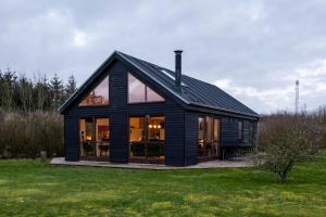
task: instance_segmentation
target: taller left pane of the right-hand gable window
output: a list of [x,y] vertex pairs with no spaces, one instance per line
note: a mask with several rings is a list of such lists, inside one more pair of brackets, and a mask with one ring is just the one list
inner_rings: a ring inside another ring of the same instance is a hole
[[146,86],[128,74],[128,102],[146,102]]

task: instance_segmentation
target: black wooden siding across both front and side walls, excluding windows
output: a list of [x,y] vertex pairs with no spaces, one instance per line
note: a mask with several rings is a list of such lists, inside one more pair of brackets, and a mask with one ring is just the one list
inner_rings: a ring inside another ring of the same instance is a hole
[[[64,140],[65,157],[67,161],[79,159],[79,132],[78,118],[95,116],[110,118],[110,161],[114,163],[127,163],[129,154],[129,126],[130,116],[164,115],[165,116],[165,164],[170,166],[184,166],[197,164],[198,149],[198,116],[209,115],[186,111],[176,103],[163,90],[158,90],[150,80],[145,80],[137,73],[135,77],[146,82],[150,88],[165,98],[160,103],[127,103],[127,73],[123,64],[115,61],[109,66],[103,75],[98,78],[93,86],[89,87],[85,94],[64,112]],[[110,75],[110,105],[78,107],[80,100]],[[248,120],[243,122],[243,140],[238,140],[238,118],[210,115],[221,119],[222,146],[248,145]],[[256,129],[256,125],[254,127]],[[247,143],[246,143],[247,142]]]

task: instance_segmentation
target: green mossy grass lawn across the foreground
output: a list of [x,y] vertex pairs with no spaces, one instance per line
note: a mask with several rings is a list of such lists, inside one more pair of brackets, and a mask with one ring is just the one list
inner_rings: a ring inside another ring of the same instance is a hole
[[251,168],[139,170],[0,161],[0,216],[323,216],[326,152],[287,183]]

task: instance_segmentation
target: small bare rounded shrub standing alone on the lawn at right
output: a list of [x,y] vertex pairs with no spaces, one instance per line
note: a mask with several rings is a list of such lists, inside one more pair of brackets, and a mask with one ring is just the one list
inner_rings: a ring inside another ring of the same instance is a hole
[[317,132],[304,118],[275,115],[263,119],[259,145],[263,152],[261,167],[276,173],[283,182],[293,165],[312,158],[317,152]]

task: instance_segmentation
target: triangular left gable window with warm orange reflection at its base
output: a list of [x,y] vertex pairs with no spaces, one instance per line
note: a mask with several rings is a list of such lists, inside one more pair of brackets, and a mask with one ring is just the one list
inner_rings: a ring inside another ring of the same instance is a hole
[[106,76],[86,98],[79,106],[108,105],[109,104],[109,76]]

